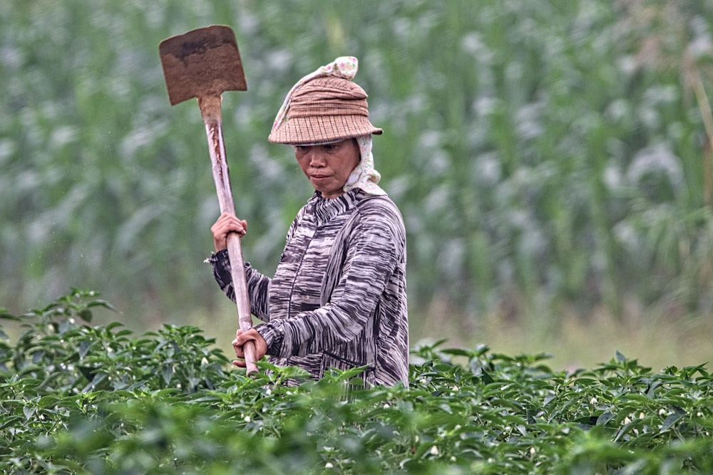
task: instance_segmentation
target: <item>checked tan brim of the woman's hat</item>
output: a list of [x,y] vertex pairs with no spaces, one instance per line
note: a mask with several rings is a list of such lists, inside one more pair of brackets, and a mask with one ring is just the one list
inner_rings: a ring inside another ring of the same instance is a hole
[[384,131],[364,115],[315,115],[289,118],[270,133],[267,140],[288,145],[334,142]]

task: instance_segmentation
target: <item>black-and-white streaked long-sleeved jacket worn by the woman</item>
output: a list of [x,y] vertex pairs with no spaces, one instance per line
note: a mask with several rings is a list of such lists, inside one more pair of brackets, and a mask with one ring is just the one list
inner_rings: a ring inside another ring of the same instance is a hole
[[[227,251],[208,259],[235,301]],[[369,385],[409,384],[406,231],[385,196],[359,189],[335,199],[315,192],[297,213],[275,276],[245,264],[255,328],[276,365],[312,377],[369,365]]]

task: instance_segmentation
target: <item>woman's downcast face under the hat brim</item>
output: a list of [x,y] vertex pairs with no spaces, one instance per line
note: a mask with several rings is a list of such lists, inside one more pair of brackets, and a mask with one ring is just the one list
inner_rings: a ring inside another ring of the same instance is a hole
[[344,184],[359,165],[359,145],[354,139],[324,145],[295,145],[294,157],[299,167],[324,198],[337,198]]

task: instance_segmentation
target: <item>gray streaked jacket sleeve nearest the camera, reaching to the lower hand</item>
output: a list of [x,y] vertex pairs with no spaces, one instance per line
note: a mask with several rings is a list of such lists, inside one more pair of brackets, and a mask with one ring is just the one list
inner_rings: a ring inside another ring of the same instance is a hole
[[405,259],[405,246],[404,225],[397,210],[359,209],[338,246],[341,250],[332,256],[339,259],[339,266],[329,301],[289,320],[257,327],[267,341],[268,354],[304,356],[354,340],[375,313],[394,268]]

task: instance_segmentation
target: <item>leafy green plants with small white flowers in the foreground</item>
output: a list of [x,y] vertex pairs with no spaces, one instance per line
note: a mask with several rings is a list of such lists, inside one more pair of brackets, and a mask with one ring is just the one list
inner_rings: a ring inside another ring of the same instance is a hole
[[410,387],[359,389],[260,363],[234,370],[198,328],[91,325],[73,291],[0,340],[0,471],[18,474],[710,474],[704,365],[652,372],[617,353],[555,372],[546,355],[422,346]]

